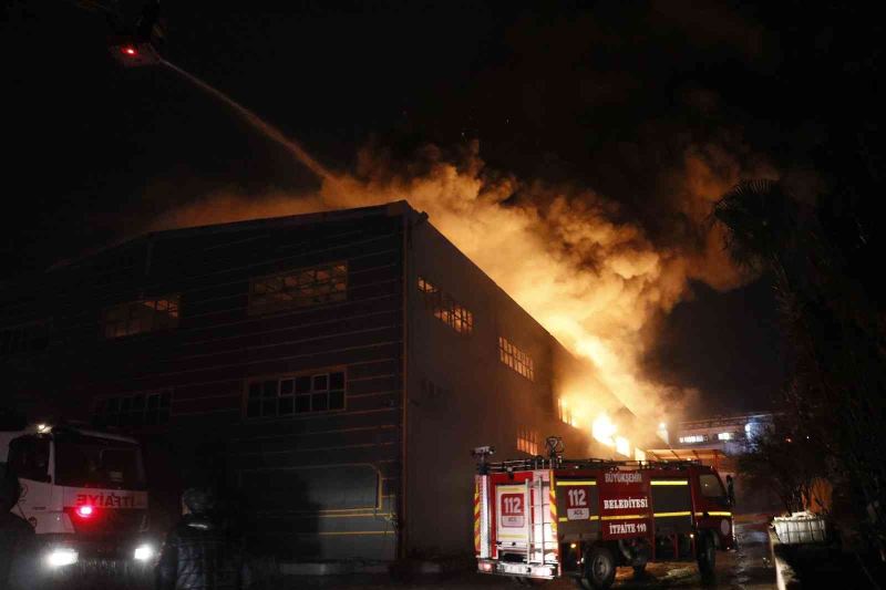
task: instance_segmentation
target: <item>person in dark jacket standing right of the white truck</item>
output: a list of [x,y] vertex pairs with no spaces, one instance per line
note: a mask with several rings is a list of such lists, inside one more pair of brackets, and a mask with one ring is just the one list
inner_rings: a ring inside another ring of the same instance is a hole
[[216,510],[214,494],[190,488],[190,511],[166,536],[157,562],[157,590],[241,590],[250,586],[244,542]]

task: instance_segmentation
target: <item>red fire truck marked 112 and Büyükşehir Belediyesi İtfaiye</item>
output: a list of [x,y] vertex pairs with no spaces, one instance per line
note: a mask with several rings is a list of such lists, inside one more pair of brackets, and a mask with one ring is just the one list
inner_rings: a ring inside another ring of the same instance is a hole
[[650,561],[697,561],[711,578],[718,550],[735,545],[731,498],[712,467],[698,462],[480,458],[474,488],[474,549],[483,573],[521,582],[570,577],[608,588],[616,568],[640,576]]

